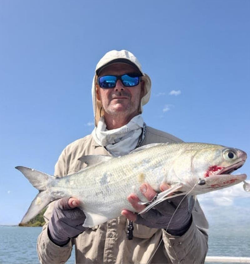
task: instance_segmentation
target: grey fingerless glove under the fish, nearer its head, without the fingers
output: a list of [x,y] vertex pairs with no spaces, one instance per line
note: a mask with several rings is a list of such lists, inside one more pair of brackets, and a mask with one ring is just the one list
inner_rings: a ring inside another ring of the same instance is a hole
[[[182,236],[192,223],[191,213],[194,206],[193,196],[186,196],[184,199],[183,197],[184,195],[180,195],[159,203],[149,211],[137,215],[135,223],[150,228],[163,228],[165,230],[168,228],[166,231],[169,234]],[[182,199],[183,201],[176,210]]]

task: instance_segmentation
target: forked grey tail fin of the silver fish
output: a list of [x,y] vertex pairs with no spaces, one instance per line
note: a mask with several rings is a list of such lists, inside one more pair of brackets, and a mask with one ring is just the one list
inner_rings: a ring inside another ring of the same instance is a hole
[[29,182],[39,190],[39,193],[32,201],[25,216],[22,218],[21,224],[25,224],[32,218],[34,218],[40,211],[42,211],[42,209],[51,201],[54,200],[46,191],[47,183],[49,180],[52,180],[53,176],[22,166],[18,166],[16,167],[16,169],[20,170],[22,174],[29,180]]

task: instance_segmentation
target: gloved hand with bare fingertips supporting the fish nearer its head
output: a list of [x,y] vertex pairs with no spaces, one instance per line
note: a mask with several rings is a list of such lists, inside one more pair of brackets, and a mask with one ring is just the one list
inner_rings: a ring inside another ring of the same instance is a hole
[[[160,186],[162,191],[168,190],[169,188],[170,186],[165,183]],[[147,183],[141,185],[140,190],[148,201],[152,201],[156,195],[155,190],[153,190],[153,188]],[[121,214],[128,220],[134,221],[136,224],[148,226],[150,228],[168,228],[168,233],[176,236],[182,236],[191,225],[191,212],[194,205],[192,197],[192,201],[190,202],[187,197],[184,199],[183,197],[184,195],[180,195],[163,201],[142,215],[138,215],[128,210],[123,210]],[[146,207],[145,205],[138,204],[140,200],[135,194],[129,195],[128,201],[138,213]],[[176,210],[179,204],[180,206]]]

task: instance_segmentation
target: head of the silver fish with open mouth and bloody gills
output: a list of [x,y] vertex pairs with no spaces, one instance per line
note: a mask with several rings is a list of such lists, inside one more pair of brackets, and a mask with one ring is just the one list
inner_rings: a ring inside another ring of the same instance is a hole
[[[244,151],[218,145],[213,145],[212,149],[206,152],[201,151],[200,155],[197,153],[193,166],[200,170],[196,169],[199,180],[195,193],[201,194],[223,189],[246,180],[246,174],[231,175],[232,172],[242,167],[246,159],[247,154]],[[206,160],[205,163],[204,160]],[[196,166],[197,162],[201,162],[199,166]]]

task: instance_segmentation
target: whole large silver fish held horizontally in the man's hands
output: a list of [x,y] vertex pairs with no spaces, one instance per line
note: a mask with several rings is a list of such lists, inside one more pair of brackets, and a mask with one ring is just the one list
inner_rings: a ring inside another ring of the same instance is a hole
[[[146,210],[163,201],[169,193],[197,195],[226,188],[244,181],[247,176],[230,175],[241,167],[247,154],[238,149],[205,143],[150,144],[121,157],[89,155],[80,158],[88,166],[62,178],[18,166],[39,193],[22,219],[26,223],[51,201],[73,196],[81,201],[87,216],[84,226],[92,227],[120,216],[122,209],[134,211],[127,201],[131,193],[142,202],[146,198],[139,186],[147,182],[160,191],[163,182],[171,189],[158,195]],[[245,182],[245,181],[244,181]],[[245,182],[244,189],[249,191]]]

